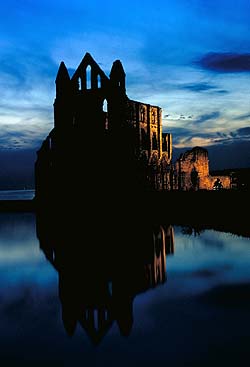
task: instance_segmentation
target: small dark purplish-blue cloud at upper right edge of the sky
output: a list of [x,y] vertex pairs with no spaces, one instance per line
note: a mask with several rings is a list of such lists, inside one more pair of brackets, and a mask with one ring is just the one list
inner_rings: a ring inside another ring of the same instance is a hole
[[250,53],[209,52],[195,63],[219,73],[250,72]]

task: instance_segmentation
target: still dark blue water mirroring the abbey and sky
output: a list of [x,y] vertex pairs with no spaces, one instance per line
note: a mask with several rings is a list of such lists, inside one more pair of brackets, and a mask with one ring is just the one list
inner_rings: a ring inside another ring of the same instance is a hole
[[67,238],[65,262],[36,230],[0,214],[1,366],[246,365],[250,239],[169,226],[110,257]]

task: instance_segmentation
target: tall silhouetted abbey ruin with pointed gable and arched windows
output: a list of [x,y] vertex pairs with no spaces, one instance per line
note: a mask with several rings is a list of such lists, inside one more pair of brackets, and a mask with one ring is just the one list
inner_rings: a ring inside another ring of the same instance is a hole
[[37,152],[36,198],[170,189],[172,139],[162,133],[161,108],[129,99],[125,77],[119,60],[107,77],[89,53],[72,77],[60,64],[54,128]]

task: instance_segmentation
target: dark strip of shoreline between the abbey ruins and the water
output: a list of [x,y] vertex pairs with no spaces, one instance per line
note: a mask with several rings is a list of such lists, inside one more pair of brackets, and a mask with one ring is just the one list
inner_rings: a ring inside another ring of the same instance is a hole
[[[118,202],[116,200],[115,206],[111,200],[105,199],[100,207],[101,213],[111,215],[115,221],[119,220],[120,215],[121,220],[130,218],[153,224],[170,223],[197,230],[213,228],[250,237],[249,198],[249,192],[240,191],[147,192],[121,198]],[[92,212],[93,218],[95,210],[99,214],[99,203],[95,198],[91,203],[80,198],[76,205],[71,202],[69,209],[63,200],[60,201],[59,210],[77,212],[80,209],[84,221],[85,214],[89,212]],[[115,208],[119,208],[118,214]],[[0,212],[36,213],[40,209],[35,199],[0,201]]]

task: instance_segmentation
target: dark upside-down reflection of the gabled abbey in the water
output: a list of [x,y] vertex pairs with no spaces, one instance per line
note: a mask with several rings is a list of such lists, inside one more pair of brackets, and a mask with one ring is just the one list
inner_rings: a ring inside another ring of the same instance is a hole
[[[166,280],[166,255],[174,253],[172,226],[130,230],[127,225],[110,233],[102,228],[98,238],[96,228],[89,228],[87,238],[81,228],[60,228],[48,232],[37,219],[40,247],[58,271],[65,330],[73,335],[80,324],[97,344],[116,322],[120,333],[129,335],[136,295]],[[112,233],[117,240],[110,244]]]

